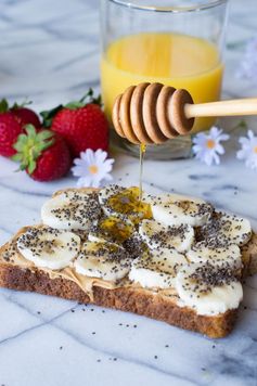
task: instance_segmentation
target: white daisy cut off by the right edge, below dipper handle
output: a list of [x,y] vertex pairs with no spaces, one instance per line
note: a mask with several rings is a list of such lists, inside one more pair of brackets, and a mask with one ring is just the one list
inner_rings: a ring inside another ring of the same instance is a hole
[[252,130],[247,132],[248,137],[240,137],[241,150],[236,153],[239,159],[245,160],[245,166],[250,169],[257,169],[257,136]]

